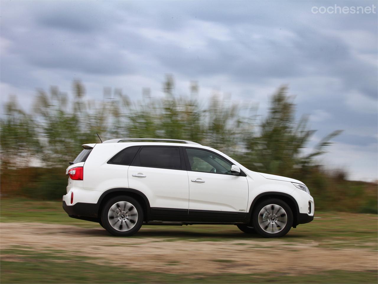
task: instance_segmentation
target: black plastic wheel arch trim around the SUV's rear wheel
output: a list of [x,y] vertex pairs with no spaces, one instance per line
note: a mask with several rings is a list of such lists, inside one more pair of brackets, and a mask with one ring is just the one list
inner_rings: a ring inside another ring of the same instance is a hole
[[148,201],[148,198],[146,195],[144,195],[143,192],[140,192],[139,190],[132,189],[132,188],[124,188],[124,187],[118,187],[113,189],[108,189],[104,193],[101,194],[99,200],[98,200],[98,216],[101,216],[102,207],[104,204],[113,197],[116,197],[118,195],[127,195],[130,197],[135,198],[142,206],[143,213],[144,213],[144,221],[148,221],[150,217],[150,202]]

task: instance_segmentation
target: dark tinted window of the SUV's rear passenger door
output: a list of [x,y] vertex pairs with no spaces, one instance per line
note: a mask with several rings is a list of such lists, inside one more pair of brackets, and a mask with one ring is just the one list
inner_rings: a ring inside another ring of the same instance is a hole
[[133,165],[181,170],[180,150],[178,147],[143,147]]

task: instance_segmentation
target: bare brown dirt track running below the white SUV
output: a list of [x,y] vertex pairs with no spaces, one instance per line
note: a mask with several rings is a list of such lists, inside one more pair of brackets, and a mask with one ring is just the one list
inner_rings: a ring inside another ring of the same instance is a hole
[[[263,242],[259,238],[225,241],[167,241],[166,237],[110,236],[102,228],[44,223],[0,223],[1,249],[64,250],[93,262],[169,273],[316,273],[319,270],[377,269],[377,252],[330,250],[317,243]],[[151,230],[141,229],[141,232]],[[12,259],[11,255],[2,255]]]

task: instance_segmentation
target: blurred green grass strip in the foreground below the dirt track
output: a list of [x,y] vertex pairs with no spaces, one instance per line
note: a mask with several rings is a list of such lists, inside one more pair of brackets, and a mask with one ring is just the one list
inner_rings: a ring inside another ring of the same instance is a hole
[[290,275],[290,272],[173,274],[94,264],[88,262],[89,257],[54,251],[9,249],[1,251],[1,255],[1,283],[376,283],[378,279],[377,271],[344,270],[301,275]]

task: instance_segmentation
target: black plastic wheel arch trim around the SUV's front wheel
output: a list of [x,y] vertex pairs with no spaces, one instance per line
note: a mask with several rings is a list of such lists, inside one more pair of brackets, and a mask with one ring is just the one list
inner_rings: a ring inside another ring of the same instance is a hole
[[259,204],[263,200],[270,199],[270,198],[277,198],[282,201],[285,201],[288,204],[291,211],[293,212],[293,227],[296,228],[296,226],[298,225],[299,206],[294,197],[284,192],[268,191],[268,192],[262,192],[259,195],[257,195],[252,201],[251,207],[249,208],[249,211],[247,213],[248,219],[251,221],[252,212],[257,204]]

